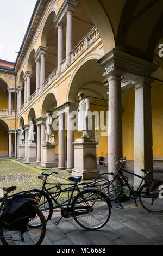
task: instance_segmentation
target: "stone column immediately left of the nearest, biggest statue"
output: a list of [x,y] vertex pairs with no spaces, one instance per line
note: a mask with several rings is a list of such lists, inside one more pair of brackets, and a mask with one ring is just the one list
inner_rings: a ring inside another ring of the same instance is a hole
[[67,171],[71,171],[74,168],[74,130],[71,127],[71,121],[73,117],[71,113],[67,115]]

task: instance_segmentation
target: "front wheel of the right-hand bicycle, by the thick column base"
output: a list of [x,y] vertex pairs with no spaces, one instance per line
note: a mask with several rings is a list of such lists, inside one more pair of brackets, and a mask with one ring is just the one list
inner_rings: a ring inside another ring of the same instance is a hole
[[[104,188],[103,193],[106,194],[106,196],[109,197],[111,201],[117,199],[120,197],[122,193],[122,181],[121,179],[117,176],[116,179],[114,180],[112,173],[104,172],[101,174],[98,174],[94,180],[96,182],[98,179],[103,180],[103,179],[108,179],[109,180],[109,185],[108,187]],[[99,182],[100,182],[99,180]]]

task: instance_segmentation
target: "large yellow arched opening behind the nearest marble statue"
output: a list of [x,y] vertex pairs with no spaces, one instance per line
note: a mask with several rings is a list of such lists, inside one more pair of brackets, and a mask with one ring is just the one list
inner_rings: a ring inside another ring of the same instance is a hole
[[[104,68],[96,63],[96,59],[87,60],[73,76],[68,94],[68,101],[74,102],[76,109],[79,106],[79,92],[89,99],[90,111],[95,117],[95,138],[99,142],[97,157],[105,157],[108,154],[108,134],[106,132],[108,88],[102,84],[103,73]],[[82,132],[74,131],[74,140],[82,136]]]

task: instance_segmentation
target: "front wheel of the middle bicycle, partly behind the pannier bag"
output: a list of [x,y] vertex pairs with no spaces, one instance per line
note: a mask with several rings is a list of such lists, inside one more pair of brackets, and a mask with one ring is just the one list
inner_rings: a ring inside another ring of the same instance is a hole
[[[51,220],[53,215],[53,204],[48,194],[44,191],[37,190],[37,189],[29,190],[29,192],[34,193],[35,199],[39,201],[37,203],[37,207],[42,211],[46,222],[48,222],[48,220]],[[39,227],[39,225],[37,227]]]

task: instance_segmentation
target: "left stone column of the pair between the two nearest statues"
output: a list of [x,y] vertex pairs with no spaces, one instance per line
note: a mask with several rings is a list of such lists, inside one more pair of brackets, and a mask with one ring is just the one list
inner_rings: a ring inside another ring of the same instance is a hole
[[58,120],[58,169],[66,170],[64,114],[59,114]]

